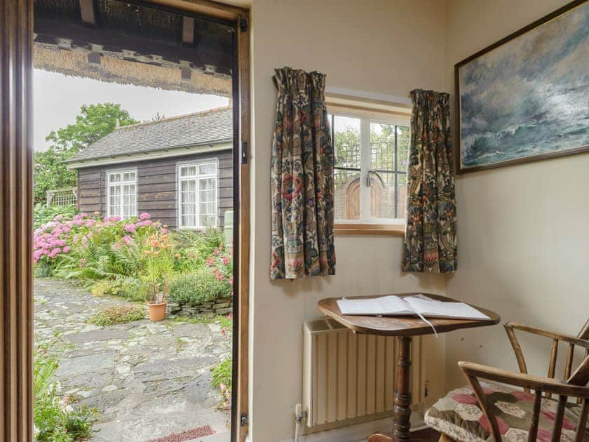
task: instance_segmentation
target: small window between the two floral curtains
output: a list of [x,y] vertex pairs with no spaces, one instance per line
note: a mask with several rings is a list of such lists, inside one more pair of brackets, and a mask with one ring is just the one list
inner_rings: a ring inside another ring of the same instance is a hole
[[330,114],[329,118],[335,152],[336,228],[403,225],[409,121],[352,114]]

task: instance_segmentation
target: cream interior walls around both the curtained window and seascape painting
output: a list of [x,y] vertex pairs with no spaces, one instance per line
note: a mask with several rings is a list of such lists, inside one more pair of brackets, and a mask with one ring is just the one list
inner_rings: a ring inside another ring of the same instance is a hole
[[[292,407],[301,400],[302,323],[318,316],[323,297],[429,290],[484,305],[506,320],[567,333],[581,327],[589,304],[583,259],[589,154],[459,177],[459,271],[449,279],[400,272],[398,236],[338,237],[336,276],[269,279],[274,68],[319,70],[331,88],[407,97],[419,87],[454,95],[454,63],[564,3],[253,0],[252,442],[292,436]],[[544,370],[546,347],[524,344],[529,366]],[[450,333],[432,348],[431,397],[463,384],[458,360],[516,368],[500,326]]]

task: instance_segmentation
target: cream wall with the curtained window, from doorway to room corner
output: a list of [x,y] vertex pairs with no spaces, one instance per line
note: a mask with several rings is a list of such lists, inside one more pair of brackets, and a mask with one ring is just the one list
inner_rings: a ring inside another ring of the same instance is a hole
[[[304,281],[269,279],[270,154],[276,92],[273,69],[285,65],[327,74],[327,85],[407,97],[412,88],[444,86],[444,2],[254,0],[252,4],[252,333],[250,437],[293,435],[302,394],[302,323],[319,316],[323,297],[430,290],[441,276],[400,272],[399,236],[338,237],[337,275]],[[442,340],[443,342],[443,340]],[[435,369],[443,378],[443,363]],[[436,386],[433,386],[433,393]],[[443,389],[443,387],[438,387]]]

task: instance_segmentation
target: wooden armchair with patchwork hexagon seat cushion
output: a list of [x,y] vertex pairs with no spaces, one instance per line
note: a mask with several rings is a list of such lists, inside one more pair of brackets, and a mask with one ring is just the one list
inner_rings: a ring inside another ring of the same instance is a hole
[[[485,440],[489,435],[495,441],[536,441],[538,438],[548,438],[553,442],[561,438],[575,442],[589,441],[586,429],[589,414],[589,320],[576,337],[520,323],[506,323],[504,327],[520,373],[459,362],[470,389],[451,391],[426,413],[426,423],[442,434],[440,442]],[[552,340],[546,377],[527,373],[516,331]],[[568,344],[562,380],[555,379],[559,342]],[[573,370],[576,347],[585,350],[585,359]],[[503,385],[482,384],[480,380]],[[519,389],[506,388],[504,384]],[[469,401],[468,397],[472,395],[476,401]],[[569,399],[576,399],[576,402]]]

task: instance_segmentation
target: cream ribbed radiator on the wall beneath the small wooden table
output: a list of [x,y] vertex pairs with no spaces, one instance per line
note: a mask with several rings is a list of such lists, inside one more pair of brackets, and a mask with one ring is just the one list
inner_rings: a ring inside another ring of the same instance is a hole
[[[424,399],[421,337],[412,340],[412,408]],[[392,415],[395,337],[352,333],[332,319],[304,323],[303,409],[306,433]]]

